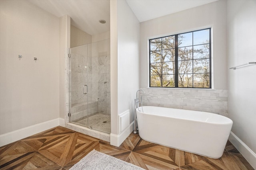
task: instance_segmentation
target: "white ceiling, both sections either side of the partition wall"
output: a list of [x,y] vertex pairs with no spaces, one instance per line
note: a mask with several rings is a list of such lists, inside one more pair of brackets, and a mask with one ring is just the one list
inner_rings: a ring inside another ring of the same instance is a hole
[[[90,35],[110,31],[110,0],[29,0],[57,17],[68,15],[71,24]],[[216,0],[126,0],[140,22]],[[106,20],[105,24],[99,20]]]

